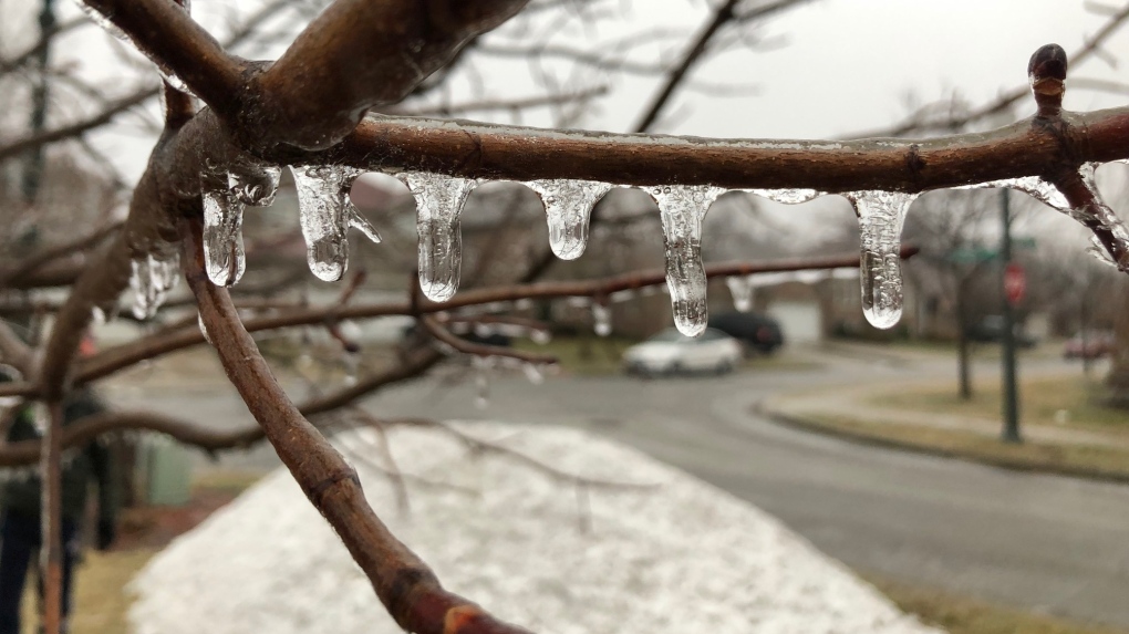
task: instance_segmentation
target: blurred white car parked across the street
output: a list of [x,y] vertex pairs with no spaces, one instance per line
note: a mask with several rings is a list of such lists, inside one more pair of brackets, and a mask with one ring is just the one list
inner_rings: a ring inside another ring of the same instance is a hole
[[677,375],[685,372],[733,371],[744,358],[741,343],[729,335],[706,328],[698,337],[688,337],[667,328],[623,353],[623,369],[633,375]]

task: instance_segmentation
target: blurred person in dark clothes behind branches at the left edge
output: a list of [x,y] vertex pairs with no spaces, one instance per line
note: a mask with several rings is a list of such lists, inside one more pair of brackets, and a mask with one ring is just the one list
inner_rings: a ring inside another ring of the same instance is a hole
[[[6,380],[0,376],[0,381]],[[7,380],[10,380],[8,378]],[[90,389],[80,389],[63,405],[63,425],[105,411],[102,400]],[[30,407],[15,413],[8,429],[8,442],[42,438]],[[97,440],[63,452],[62,465],[62,539],[63,539],[63,632],[71,609],[75,565],[81,552],[82,520],[86,516],[87,491],[91,482],[98,487],[98,522],[96,547],[110,548],[116,534],[119,482],[116,464],[110,449]],[[37,560],[42,539],[40,499],[42,478],[37,472],[14,477],[0,486],[0,634],[19,634],[19,604],[24,595],[27,571]],[[38,582],[40,606],[43,605],[43,580]]]

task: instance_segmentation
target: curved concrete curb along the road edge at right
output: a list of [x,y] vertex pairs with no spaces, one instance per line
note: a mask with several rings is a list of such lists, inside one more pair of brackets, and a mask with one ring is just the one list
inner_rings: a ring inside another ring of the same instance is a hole
[[870,435],[867,433],[839,429],[835,426],[826,425],[824,423],[819,423],[809,419],[805,419],[803,416],[797,416],[795,414],[788,414],[779,410],[773,410],[772,407],[765,405],[763,400],[758,402],[755,405],[753,405],[752,411],[753,413],[761,415],[786,428],[790,428],[807,433],[817,433],[820,435],[826,435],[830,438],[835,438],[846,442],[861,444],[865,447],[893,449],[898,451],[905,451],[909,454],[933,456],[935,458],[962,460],[964,463],[986,465],[989,467],[996,467],[1009,472],[1017,472],[1024,474],[1054,475],[1054,476],[1074,477],[1074,478],[1088,479],[1095,482],[1106,482],[1112,484],[1129,484],[1129,473],[1115,473],[1102,469],[1091,469],[1086,467],[1070,467],[1061,465],[1034,465],[1031,463],[1022,463],[1008,458],[997,458],[991,456],[973,456],[961,451],[939,449],[926,444],[914,444],[911,442],[904,442],[890,438]]

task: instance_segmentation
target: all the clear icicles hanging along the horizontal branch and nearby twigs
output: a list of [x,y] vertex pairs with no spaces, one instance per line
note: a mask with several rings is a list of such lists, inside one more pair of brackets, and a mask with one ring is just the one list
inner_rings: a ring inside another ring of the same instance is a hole
[[[1084,182],[1094,187],[1094,165],[1083,167]],[[325,281],[340,280],[348,266],[350,228],[360,230],[374,243],[380,237],[349,200],[353,180],[362,170],[342,166],[292,168],[297,183],[301,230],[306,238],[310,271]],[[230,175],[227,186],[204,193],[204,257],[208,275],[219,285],[231,285],[243,275],[242,223],[246,205],[270,204],[278,186],[280,169],[261,168],[253,177]],[[432,301],[450,299],[458,288],[462,261],[460,217],[467,196],[479,180],[440,174],[404,173],[400,179],[415,199],[419,231],[420,288]],[[549,240],[562,259],[579,257],[588,240],[588,221],[596,202],[616,185],[584,180],[534,180],[525,183],[537,193],[545,208]],[[207,185],[205,185],[207,186]],[[972,187],[1012,187],[1065,213],[1080,218],[1052,185],[1038,178],[982,183]],[[706,270],[701,256],[702,221],[714,201],[725,190],[704,185],[668,185],[644,188],[658,204],[666,246],[666,282],[674,320],[690,336],[706,328]],[[823,195],[812,190],[746,190],[767,199],[796,204]],[[878,328],[890,328],[901,318],[902,275],[901,231],[910,204],[917,194],[866,191],[842,194],[858,215],[861,234],[861,294],[866,318]],[[1096,211],[1100,221],[1114,238],[1129,247],[1129,230],[1109,208]],[[1096,255],[1104,256],[1099,249]],[[1109,264],[1114,264],[1104,256]],[[175,280],[175,262],[134,263],[138,300],[134,314],[150,316]],[[751,278],[728,281],[738,309],[751,305]],[[601,331],[606,326],[605,307],[593,305]]]

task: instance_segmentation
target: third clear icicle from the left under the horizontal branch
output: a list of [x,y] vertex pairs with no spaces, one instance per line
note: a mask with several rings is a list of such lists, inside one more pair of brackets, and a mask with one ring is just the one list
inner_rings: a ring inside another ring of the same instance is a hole
[[401,178],[415,196],[420,288],[431,301],[447,301],[458,290],[462,267],[458,215],[478,180],[422,173]]

